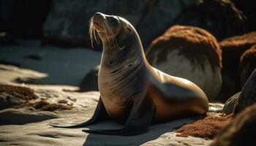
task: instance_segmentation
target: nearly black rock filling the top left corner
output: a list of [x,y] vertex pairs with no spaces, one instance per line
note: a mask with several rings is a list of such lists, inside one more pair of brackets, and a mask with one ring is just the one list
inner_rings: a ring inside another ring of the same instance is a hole
[[51,0],[1,0],[0,32],[23,38],[41,38]]

